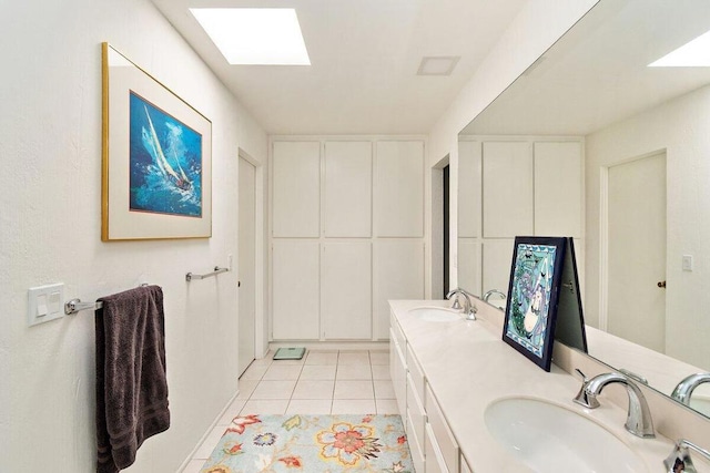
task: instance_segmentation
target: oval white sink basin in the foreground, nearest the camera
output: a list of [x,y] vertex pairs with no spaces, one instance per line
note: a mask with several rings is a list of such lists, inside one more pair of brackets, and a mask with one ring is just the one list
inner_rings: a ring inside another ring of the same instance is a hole
[[645,463],[616,435],[577,412],[510,398],[485,412],[490,434],[536,472],[641,472]]

